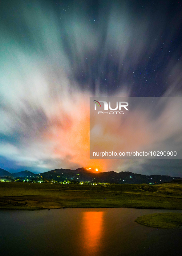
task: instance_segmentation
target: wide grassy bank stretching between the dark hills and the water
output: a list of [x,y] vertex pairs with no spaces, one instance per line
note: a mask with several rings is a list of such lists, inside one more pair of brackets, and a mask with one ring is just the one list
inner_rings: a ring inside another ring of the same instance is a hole
[[0,182],[0,208],[132,207],[182,209],[181,184],[61,185]]

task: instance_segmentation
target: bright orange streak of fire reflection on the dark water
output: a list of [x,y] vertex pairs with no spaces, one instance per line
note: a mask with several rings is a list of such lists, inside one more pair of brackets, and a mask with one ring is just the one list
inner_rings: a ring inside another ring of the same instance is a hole
[[103,231],[103,211],[83,212],[83,241],[87,255],[98,251]]

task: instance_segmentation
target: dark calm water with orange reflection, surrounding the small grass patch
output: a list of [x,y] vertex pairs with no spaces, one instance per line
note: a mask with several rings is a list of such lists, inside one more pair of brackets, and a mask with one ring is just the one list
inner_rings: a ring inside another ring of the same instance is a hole
[[156,212],[182,210],[1,210],[0,255],[181,255],[182,229],[134,222]]

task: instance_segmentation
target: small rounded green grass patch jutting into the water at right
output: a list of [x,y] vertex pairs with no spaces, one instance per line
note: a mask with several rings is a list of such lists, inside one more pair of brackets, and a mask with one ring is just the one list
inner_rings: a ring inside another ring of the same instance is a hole
[[135,219],[135,222],[152,228],[180,228],[182,213],[153,213]]

